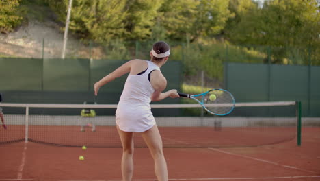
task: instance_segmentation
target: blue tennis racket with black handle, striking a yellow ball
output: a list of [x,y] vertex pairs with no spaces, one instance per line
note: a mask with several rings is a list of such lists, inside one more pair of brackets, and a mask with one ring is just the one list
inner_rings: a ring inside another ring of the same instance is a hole
[[198,95],[178,93],[180,97],[187,97],[196,100],[207,112],[226,116],[235,108],[235,98],[231,93],[224,89],[212,89]]

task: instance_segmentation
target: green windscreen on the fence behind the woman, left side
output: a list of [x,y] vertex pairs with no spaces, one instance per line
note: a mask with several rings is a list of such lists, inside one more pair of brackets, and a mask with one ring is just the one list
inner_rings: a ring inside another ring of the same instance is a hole
[[[94,97],[94,82],[128,60],[0,58],[0,93],[3,102],[117,104],[126,75],[103,86]],[[168,61],[161,67],[168,80],[167,89],[180,88],[181,63]],[[176,99],[164,102],[176,103]]]

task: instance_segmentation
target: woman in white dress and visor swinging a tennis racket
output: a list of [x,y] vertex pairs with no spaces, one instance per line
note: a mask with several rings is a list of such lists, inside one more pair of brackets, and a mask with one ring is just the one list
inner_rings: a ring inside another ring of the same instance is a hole
[[167,80],[162,75],[160,67],[167,62],[169,55],[169,45],[159,41],[150,51],[150,61],[130,60],[94,84],[94,94],[97,95],[101,86],[129,73],[116,110],[116,125],[123,148],[121,162],[123,180],[131,180],[133,175],[134,132],[142,133],[155,161],[155,174],[158,180],[168,180],[162,140],[151,112],[150,101],[179,97],[174,89],[162,93],[167,86]]

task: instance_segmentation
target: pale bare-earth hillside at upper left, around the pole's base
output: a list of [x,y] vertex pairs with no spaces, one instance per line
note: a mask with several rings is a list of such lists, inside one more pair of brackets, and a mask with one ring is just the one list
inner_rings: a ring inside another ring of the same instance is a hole
[[[64,25],[57,20],[49,7],[24,5],[27,12],[22,25],[10,34],[0,34],[0,57],[42,58],[61,55]],[[78,42],[69,34],[68,42]],[[48,48],[50,47],[50,48]]]

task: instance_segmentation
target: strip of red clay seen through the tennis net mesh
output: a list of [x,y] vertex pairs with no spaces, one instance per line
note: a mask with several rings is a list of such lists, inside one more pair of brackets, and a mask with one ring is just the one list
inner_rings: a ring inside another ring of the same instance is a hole
[[[269,145],[295,138],[292,127],[159,127],[163,147],[248,147]],[[28,138],[31,142],[52,143],[70,147],[121,147],[115,127],[97,126],[96,132],[80,126],[29,125]],[[25,140],[25,126],[10,125],[0,132],[0,143]],[[142,137],[135,136],[136,147],[146,147]]]

